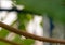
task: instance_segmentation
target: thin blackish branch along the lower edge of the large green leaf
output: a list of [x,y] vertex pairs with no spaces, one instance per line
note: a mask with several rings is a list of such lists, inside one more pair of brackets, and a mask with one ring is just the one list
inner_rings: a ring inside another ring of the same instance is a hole
[[13,8],[13,9],[0,9],[0,11],[8,11],[8,12],[17,12],[17,13],[29,13],[29,14],[37,14],[37,15],[41,15],[41,14],[38,14],[38,13],[34,13],[34,12],[30,12],[30,11],[26,11],[26,10],[17,10],[16,8]]

